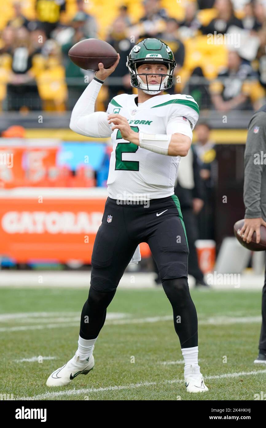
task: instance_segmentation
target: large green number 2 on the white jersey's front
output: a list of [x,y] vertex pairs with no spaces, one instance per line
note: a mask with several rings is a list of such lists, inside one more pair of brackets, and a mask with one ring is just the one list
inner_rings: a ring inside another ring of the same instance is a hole
[[[134,132],[138,132],[138,126],[130,127]],[[120,129],[117,131],[117,140],[122,139]],[[120,169],[124,171],[138,171],[139,162],[137,160],[122,160],[123,153],[136,153],[138,146],[131,143],[117,143],[117,148],[115,150],[115,169]]]

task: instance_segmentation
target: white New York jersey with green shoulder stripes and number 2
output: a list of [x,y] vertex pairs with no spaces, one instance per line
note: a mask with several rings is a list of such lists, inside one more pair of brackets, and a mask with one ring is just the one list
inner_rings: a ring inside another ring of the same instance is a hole
[[[136,97],[136,94],[117,95],[107,109],[108,114],[126,117],[135,132],[185,134],[178,130],[178,120],[179,123],[180,118],[189,121],[187,124],[193,130],[199,118],[199,106],[189,95],[156,95],[139,106],[134,101]],[[175,122],[176,128],[173,127]],[[123,140],[117,129],[111,134],[111,140],[113,151],[107,181],[110,198],[149,200],[174,194],[180,156],[159,155],[142,149]]]

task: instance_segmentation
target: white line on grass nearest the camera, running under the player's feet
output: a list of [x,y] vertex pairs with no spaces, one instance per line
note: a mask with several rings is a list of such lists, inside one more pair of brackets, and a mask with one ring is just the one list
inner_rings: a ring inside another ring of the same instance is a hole
[[[223,375],[213,375],[213,376],[205,376],[205,380],[211,379],[223,379],[223,378],[234,378],[240,376],[254,376],[261,375],[266,373],[266,370],[253,370],[252,372],[238,372],[238,373],[225,373]],[[60,396],[71,396],[71,395],[88,395],[91,393],[103,392],[103,391],[117,391],[123,389],[136,389],[145,386],[159,385],[164,383],[184,383],[184,379],[173,379],[173,380],[164,380],[162,382],[138,382],[138,383],[130,383],[129,385],[115,385],[115,386],[106,386],[105,388],[82,388],[82,389],[69,389],[67,391],[48,391],[44,394],[33,395],[32,397],[20,397],[18,400],[45,400],[46,398],[56,398]]]

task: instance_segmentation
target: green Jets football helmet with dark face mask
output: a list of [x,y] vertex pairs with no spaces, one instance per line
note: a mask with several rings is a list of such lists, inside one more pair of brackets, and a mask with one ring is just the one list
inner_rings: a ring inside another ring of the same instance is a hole
[[[137,67],[146,62],[148,64],[164,64],[167,66],[167,74],[157,73],[161,76],[160,84],[148,85],[147,75],[154,73],[137,73]],[[143,39],[137,43],[127,57],[126,66],[129,69],[131,86],[142,89],[146,94],[156,95],[172,86],[173,72],[176,67],[175,58],[170,47],[160,39]],[[143,75],[146,75],[146,83],[143,83],[143,80],[140,78]]]

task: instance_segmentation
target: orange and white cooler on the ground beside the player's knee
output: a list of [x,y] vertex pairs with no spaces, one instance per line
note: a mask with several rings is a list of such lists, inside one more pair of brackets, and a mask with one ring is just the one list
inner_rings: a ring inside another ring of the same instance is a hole
[[195,242],[199,268],[203,273],[213,270],[216,256],[216,242],[211,239],[198,239]]

